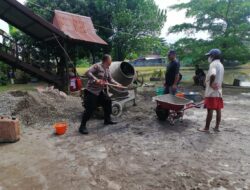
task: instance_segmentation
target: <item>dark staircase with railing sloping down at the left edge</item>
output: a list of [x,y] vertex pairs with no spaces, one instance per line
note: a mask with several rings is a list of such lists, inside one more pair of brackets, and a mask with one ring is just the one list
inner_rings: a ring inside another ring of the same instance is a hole
[[41,56],[39,48],[27,48],[5,34],[0,34],[0,60],[37,78],[62,87],[63,75],[58,74],[56,58],[51,54]]

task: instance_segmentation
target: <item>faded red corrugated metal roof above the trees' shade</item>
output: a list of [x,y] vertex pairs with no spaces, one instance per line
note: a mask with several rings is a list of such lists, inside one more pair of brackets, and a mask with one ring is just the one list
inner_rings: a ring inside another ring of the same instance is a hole
[[72,39],[107,45],[96,34],[90,17],[55,10],[53,25]]

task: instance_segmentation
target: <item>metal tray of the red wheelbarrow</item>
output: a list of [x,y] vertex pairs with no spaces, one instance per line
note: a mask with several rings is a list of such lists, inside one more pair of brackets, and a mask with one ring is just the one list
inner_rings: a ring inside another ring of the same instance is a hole
[[154,97],[154,100],[162,109],[180,111],[193,103],[192,100],[188,100],[185,98],[179,98],[171,94],[161,95]]

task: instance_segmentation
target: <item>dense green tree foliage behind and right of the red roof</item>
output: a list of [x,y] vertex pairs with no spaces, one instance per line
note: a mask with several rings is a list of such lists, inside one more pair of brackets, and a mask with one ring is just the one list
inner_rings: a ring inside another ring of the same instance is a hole
[[98,34],[110,44],[104,52],[112,50],[116,60],[131,52],[140,54],[136,47],[159,35],[166,21],[166,11],[154,0],[28,0],[26,5],[49,21],[54,9],[90,16]]

